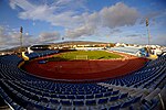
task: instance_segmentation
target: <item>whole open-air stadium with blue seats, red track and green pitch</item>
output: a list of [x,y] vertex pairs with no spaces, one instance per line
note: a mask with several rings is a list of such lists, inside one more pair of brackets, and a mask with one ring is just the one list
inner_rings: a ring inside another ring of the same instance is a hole
[[[116,48],[39,50],[22,53],[22,57],[0,56],[0,95],[11,109],[158,110],[163,107],[165,55],[152,61],[124,53],[124,48],[122,52],[120,48],[118,52],[112,51]],[[60,58],[75,52],[73,59]],[[87,58],[89,52],[97,53],[94,55],[100,58]],[[106,56],[103,53],[115,58],[103,58]]]

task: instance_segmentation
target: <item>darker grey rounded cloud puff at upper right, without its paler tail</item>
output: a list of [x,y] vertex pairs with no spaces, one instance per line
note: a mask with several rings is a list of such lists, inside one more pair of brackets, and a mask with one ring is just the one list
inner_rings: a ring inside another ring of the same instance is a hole
[[134,25],[139,16],[136,9],[118,2],[100,11],[102,25],[111,29],[125,25]]

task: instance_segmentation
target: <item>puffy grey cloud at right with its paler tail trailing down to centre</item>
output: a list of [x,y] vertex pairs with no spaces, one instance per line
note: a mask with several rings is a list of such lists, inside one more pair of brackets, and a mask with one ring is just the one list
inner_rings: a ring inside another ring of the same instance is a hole
[[[82,35],[92,35],[98,29],[116,29],[125,25],[134,25],[139,16],[136,9],[118,2],[110,8],[104,8],[98,12],[84,13],[86,18],[84,25],[65,32],[69,37],[80,37]],[[98,31],[100,32],[100,31]]]

